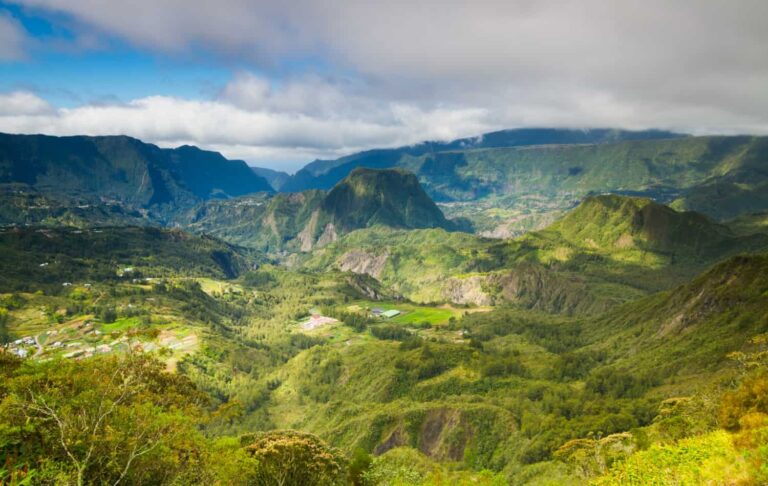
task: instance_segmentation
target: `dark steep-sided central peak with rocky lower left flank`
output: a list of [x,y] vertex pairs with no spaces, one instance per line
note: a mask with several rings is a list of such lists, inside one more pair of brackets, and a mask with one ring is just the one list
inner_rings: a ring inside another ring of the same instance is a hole
[[268,252],[309,251],[373,226],[456,229],[416,177],[401,169],[356,169],[328,193],[208,201],[191,211],[183,224],[191,231]]

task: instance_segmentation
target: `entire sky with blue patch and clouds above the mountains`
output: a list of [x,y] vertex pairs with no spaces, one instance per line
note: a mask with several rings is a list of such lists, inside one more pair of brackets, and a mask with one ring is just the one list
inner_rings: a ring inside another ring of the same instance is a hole
[[0,0],[0,131],[293,172],[505,128],[768,134],[765,0]]

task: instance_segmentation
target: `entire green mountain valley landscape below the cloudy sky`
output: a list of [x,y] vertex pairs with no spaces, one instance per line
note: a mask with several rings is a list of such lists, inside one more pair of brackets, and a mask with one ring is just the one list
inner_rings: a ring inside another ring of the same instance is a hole
[[[255,484],[261,440],[324,444],[327,484],[765,481],[764,140],[468,144],[249,179],[192,147],[5,136],[3,481],[114,482],[143,429],[162,447],[131,483]],[[704,196],[726,181],[745,192]],[[50,414],[110,394],[107,425],[57,439]]]

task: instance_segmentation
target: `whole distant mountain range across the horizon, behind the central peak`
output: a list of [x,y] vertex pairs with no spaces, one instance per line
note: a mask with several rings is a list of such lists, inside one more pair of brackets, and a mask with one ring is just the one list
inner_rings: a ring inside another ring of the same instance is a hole
[[[289,176],[215,152],[160,149],[128,137],[3,135],[0,196],[5,222],[175,224],[205,201],[326,191],[358,167],[401,168],[460,228],[510,237],[541,229],[602,193],[649,197],[720,221],[764,211],[766,154],[765,137],[525,129],[315,161]],[[93,201],[101,207],[84,211]]]

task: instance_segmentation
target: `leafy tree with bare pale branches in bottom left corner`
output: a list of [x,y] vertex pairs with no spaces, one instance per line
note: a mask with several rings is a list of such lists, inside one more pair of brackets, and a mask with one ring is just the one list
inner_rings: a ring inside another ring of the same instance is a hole
[[203,395],[146,355],[25,362],[0,371],[6,461],[78,485],[164,484],[204,469],[195,427]]

